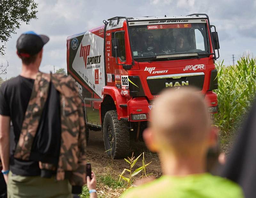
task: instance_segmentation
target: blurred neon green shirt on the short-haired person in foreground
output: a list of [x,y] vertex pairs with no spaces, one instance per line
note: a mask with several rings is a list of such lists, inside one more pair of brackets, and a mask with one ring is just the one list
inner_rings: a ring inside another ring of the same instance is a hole
[[184,177],[162,176],[153,182],[125,191],[123,198],[240,198],[242,189],[234,182],[209,173]]

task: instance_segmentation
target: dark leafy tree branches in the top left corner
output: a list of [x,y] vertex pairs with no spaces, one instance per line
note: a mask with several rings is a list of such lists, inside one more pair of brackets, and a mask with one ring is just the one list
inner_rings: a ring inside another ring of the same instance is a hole
[[34,0],[0,0],[0,54],[4,55],[4,46],[20,23],[29,23],[36,19],[37,5]]

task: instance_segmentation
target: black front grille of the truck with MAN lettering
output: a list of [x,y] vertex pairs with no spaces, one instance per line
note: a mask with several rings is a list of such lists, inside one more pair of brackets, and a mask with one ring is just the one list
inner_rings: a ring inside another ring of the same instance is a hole
[[187,86],[194,86],[201,91],[204,72],[148,76],[147,82],[152,95],[158,95],[164,88],[182,89]]

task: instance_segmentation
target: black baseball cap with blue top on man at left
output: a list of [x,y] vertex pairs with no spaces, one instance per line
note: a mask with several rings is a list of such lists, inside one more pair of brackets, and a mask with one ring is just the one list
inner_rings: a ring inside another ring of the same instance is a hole
[[49,41],[46,35],[38,35],[33,31],[24,32],[17,40],[16,48],[21,57],[30,57],[37,54]]

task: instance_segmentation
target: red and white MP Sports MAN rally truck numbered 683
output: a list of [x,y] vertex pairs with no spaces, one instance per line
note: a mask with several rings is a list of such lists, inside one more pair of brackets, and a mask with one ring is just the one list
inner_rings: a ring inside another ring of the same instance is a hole
[[219,48],[207,14],[114,17],[69,36],[67,70],[84,101],[87,139],[89,129],[101,130],[107,154],[126,157],[130,139],[141,139],[154,99],[166,88],[197,87],[213,117]]

